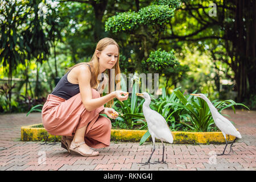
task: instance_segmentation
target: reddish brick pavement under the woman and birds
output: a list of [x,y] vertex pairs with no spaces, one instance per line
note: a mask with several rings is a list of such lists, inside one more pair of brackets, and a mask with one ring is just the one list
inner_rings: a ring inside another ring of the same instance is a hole
[[[60,143],[20,141],[20,127],[41,122],[40,113],[0,115],[0,171],[59,170],[59,171],[204,171],[204,170],[253,170],[256,169],[256,111],[225,110],[236,123],[242,139],[233,147],[234,154],[215,156],[224,149],[224,144],[169,144],[166,143],[166,164],[146,162],[152,143],[114,142],[109,147],[96,149],[99,156],[71,156]],[[229,152],[229,146],[226,152]],[[151,162],[162,160],[162,144],[156,143]]]

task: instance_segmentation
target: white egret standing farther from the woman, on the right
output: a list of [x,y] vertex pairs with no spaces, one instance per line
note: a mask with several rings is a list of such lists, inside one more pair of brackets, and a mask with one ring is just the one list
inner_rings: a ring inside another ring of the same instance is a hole
[[[229,153],[231,151],[234,152],[233,149],[232,149],[233,143],[236,141],[237,138],[242,138],[241,134],[237,131],[236,127],[234,127],[234,125],[232,125],[232,123],[227,118],[225,118],[223,115],[221,115],[218,112],[218,110],[213,106],[212,102],[210,102],[210,100],[204,94],[202,94],[202,93],[199,93],[199,94],[191,93],[191,95],[196,96],[196,97],[200,97],[203,100],[205,100],[205,102],[207,102],[207,104],[209,106],[209,109],[210,109],[210,113],[212,113],[213,121],[216,124],[216,126],[218,127],[218,129],[221,130],[222,134],[224,135],[225,140],[226,140],[226,134],[236,137],[234,139],[234,141],[231,143]],[[226,146],[228,146],[227,140],[226,140]],[[222,152],[222,154],[218,154],[218,155],[226,155],[226,154],[224,154],[224,152],[226,150],[226,146],[225,146],[224,151]]]

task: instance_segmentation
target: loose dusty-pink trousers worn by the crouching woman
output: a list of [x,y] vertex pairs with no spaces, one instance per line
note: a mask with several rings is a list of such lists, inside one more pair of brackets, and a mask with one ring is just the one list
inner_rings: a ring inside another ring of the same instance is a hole
[[[100,97],[96,89],[92,89],[92,97]],[[42,109],[44,128],[52,135],[73,137],[77,129],[87,126],[85,143],[92,148],[103,148],[110,145],[111,122],[109,118],[99,115],[104,106],[88,111],[82,104],[81,94],[64,100],[49,94]]]

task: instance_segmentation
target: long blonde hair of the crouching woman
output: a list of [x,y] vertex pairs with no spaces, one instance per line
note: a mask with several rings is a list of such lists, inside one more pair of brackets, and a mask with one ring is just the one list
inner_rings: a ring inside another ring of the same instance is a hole
[[[100,73],[100,64],[99,64],[99,61],[98,61],[98,57],[96,56],[96,50],[98,51],[103,51],[107,46],[109,45],[115,45],[118,47],[118,57],[117,57],[117,63],[115,63],[114,65],[114,69],[115,69],[115,85],[117,85],[117,90],[121,90],[121,86],[118,82],[120,82],[120,74],[121,71],[120,71],[120,68],[119,68],[119,46],[117,44],[117,42],[115,42],[114,39],[111,39],[111,38],[104,38],[104,39],[101,39],[98,43],[97,43],[97,46],[96,46],[96,49],[93,53],[93,56],[92,56],[92,59],[90,59],[89,62],[84,62],[84,63],[78,63],[78,64],[75,64],[73,65],[73,67],[70,67],[70,68],[67,68],[67,71],[70,71],[72,68],[75,68],[79,65],[82,65],[82,64],[87,64],[87,65],[90,65],[90,70],[92,71],[91,72],[91,81],[90,81],[90,84],[92,85],[92,88],[93,89],[98,89],[98,86],[100,84],[100,81],[97,79],[99,73]],[[107,69],[105,72],[107,72],[106,74],[108,75],[109,77],[109,93],[110,93],[110,69]],[[104,86],[102,86],[102,89],[104,89]],[[101,93],[101,97],[102,97],[103,93]],[[106,107],[112,107],[114,104],[114,101],[111,100],[109,101],[108,103],[106,103]]]

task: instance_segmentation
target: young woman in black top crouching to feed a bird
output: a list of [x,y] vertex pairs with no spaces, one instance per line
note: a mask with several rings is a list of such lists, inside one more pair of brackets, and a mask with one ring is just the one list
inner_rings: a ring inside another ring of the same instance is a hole
[[[98,92],[98,75],[106,71],[110,78],[112,68],[118,76],[119,46],[113,39],[104,38],[98,42],[92,59],[69,68],[47,97],[42,109],[44,128],[49,134],[62,135],[61,147],[71,154],[97,156],[99,152],[90,147],[110,145],[112,125],[109,118],[118,116],[117,111],[110,108],[113,99],[124,101],[129,97],[129,93],[119,89],[103,97]],[[101,113],[109,118],[99,115]]]

